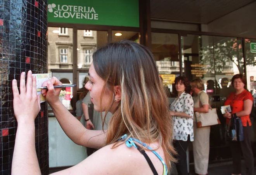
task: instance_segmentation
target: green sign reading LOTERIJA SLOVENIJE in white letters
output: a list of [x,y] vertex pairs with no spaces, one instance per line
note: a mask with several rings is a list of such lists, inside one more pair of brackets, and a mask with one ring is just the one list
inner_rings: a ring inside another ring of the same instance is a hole
[[48,22],[139,27],[138,0],[48,0]]

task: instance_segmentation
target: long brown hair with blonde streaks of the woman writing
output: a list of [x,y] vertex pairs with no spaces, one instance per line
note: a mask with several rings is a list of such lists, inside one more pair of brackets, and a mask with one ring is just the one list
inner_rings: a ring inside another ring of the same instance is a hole
[[[121,102],[109,121],[106,144],[116,143],[113,146],[116,148],[123,143],[119,139],[124,134],[145,143],[159,142],[170,168],[175,161],[172,155],[176,153],[172,146],[173,122],[151,51],[132,41],[114,42],[93,54],[93,65],[106,81],[101,99],[106,88],[121,86]],[[106,114],[113,103],[114,91]]]

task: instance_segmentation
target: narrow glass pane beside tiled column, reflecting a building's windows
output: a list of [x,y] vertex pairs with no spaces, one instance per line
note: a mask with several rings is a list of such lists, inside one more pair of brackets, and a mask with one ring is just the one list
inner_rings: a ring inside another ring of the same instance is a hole
[[[73,29],[48,27],[48,73],[62,84],[73,83]],[[67,109],[72,109],[73,87],[62,88],[59,99]],[[48,105],[48,109],[51,110]]]

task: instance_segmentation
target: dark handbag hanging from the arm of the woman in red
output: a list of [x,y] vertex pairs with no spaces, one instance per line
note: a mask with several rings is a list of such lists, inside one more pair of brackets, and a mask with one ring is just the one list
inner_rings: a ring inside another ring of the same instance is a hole
[[244,141],[244,128],[242,125],[242,120],[239,117],[234,118],[232,115],[231,120],[228,123],[227,140]]

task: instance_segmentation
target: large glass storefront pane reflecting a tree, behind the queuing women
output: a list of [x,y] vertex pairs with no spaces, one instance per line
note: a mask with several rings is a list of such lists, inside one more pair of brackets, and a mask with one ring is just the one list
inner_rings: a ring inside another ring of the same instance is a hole
[[218,150],[220,147],[229,150],[225,138],[226,119],[220,108],[234,91],[231,78],[235,74],[244,73],[242,53],[242,41],[237,38],[198,35],[182,37],[183,75],[189,80],[201,78],[204,81],[204,91],[209,95],[211,106],[217,108],[221,121],[220,125],[211,126],[210,160],[215,159],[216,155],[221,156],[221,159],[230,156],[222,155]]

